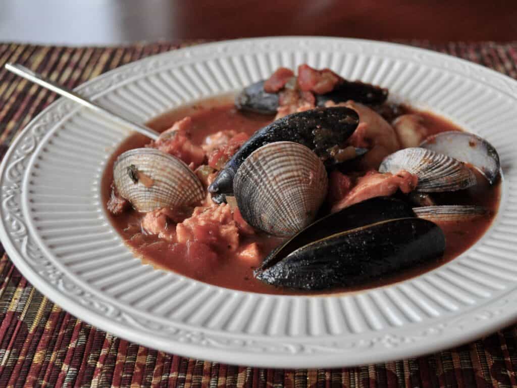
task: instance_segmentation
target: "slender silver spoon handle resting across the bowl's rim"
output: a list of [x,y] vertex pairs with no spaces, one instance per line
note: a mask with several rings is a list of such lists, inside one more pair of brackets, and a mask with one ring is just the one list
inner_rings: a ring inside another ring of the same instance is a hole
[[97,105],[95,102],[90,101],[78,93],[59,85],[50,80],[45,80],[40,74],[35,73],[34,71],[27,69],[26,67],[18,64],[7,63],[5,68],[9,71],[12,71],[14,74],[18,74],[18,76],[23,77],[31,82],[37,83],[40,86],[43,86],[52,92],[55,92],[63,97],[69,98],[75,102],[79,102],[81,105],[89,108],[95,112],[101,113],[104,116],[110,118],[117,124],[123,125],[125,127],[130,127],[132,130],[142,133],[142,135],[148,137],[151,140],[157,140],[160,134],[146,126],[136,124],[127,118],[121,117],[112,111]]

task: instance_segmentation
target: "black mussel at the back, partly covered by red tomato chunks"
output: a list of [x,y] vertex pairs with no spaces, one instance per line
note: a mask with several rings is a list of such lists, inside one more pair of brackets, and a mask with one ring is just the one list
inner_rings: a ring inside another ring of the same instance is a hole
[[[264,80],[255,82],[244,89],[235,98],[235,106],[240,110],[247,110],[262,114],[275,114],[280,106],[278,93],[264,91]],[[366,105],[379,105],[388,98],[388,90],[359,81],[343,80],[330,93],[314,96],[316,106],[323,107],[325,102],[345,102],[354,100]]]

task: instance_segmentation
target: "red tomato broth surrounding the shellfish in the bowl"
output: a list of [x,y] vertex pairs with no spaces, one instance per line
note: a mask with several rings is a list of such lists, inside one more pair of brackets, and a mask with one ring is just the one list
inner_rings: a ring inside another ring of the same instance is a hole
[[[404,108],[404,110],[406,112],[417,112],[410,108]],[[432,113],[418,112],[418,114],[424,118],[425,126],[430,129],[429,135],[443,131],[461,130],[453,123]],[[248,135],[251,135],[257,129],[262,128],[273,120],[272,116],[239,112],[234,108],[232,99],[225,97],[203,101],[194,106],[168,112],[150,121],[148,126],[161,132],[170,128],[174,122],[185,116],[192,118],[192,141],[196,144],[201,144],[208,135],[228,128],[235,128],[238,132],[246,132]],[[142,135],[134,134],[121,143],[113,152],[102,178],[102,200],[104,204],[107,203],[110,197],[113,163],[117,156],[131,148],[142,147],[148,143],[149,139]],[[413,271],[398,274],[390,279],[369,283],[360,288],[338,288],[317,293],[348,292],[386,285],[429,271],[460,255],[460,253],[472,246],[489,228],[499,203],[500,183],[490,186],[481,174],[477,173],[476,175],[478,185],[460,192],[440,195],[440,204],[481,205],[489,209],[489,215],[469,222],[440,223],[439,226],[444,230],[447,239],[447,249],[442,259],[426,267],[416,268]],[[310,294],[310,292],[276,288],[256,280],[253,277],[253,270],[258,264],[238,259],[232,253],[219,253],[217,258],[214,259],[213,255],[207,255],[206,252],[192,253],[184,247],[178,248],[178,246],[164,241],[156,235],[142,234],[140,232],[143,215],[134,210],[128,210],[118,216],[114,216],[108,211],[107,213],[110,216],[112,225],[124,238],[126,244],[133,249],[136,255],[141,257],[144,263],[174,271],[212,285],[235,290],[268,294]],[[135,238],[135,235],[138,235],[138,238]],[[239,238],[239,246],[257,243],[258,247],[260,247],[262,258],[266,257],[268,252],[284,241],[282,238],[268,236],[264,233],[241,235]]]

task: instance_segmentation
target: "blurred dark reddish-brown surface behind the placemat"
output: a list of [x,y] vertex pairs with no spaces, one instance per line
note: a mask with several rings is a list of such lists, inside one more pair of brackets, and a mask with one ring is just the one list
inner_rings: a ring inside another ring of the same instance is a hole
[[331,35],[367,39],[517,39],[517,2],[477,0],[218,0],[184,2],[174,37]]

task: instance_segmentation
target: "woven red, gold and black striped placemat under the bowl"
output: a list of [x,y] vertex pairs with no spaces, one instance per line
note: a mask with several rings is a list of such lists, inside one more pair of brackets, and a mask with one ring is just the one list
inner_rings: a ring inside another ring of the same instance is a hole
[[[517,43],[406,43],[460,56],[517,78]],[[7,72],[6,62],[21,63],[75,87],[117,66],[180,46],[68,48],[0,43],[0,156],[13,137],[56,98]],[[472,344],[386,364],[309,370],[224,365],[145,348],[82,322],[32,287],[0,249],[0,387],[517,387],[517,326]]]

